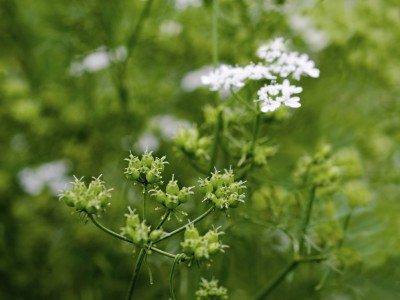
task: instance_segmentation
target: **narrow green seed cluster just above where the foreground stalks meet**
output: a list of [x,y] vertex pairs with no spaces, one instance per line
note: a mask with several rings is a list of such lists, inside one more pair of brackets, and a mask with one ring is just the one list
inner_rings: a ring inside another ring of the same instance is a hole
[[[121,228],[121,234],[132,240],[135,245],[143,247],[150,239],[150,227],[146,225],[145,221],[140,221],[139,215],[134,210],[128,209],[129,213],[125,214],[126,223],[125,227]],[[157,238],[159,237],[160,235],[157,236]]]

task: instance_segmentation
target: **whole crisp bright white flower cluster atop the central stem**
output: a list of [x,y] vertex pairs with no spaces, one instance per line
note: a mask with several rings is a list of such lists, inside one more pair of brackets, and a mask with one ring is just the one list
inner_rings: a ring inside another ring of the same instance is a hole
[[[300,98],[293,94],[302,91],[291,85],[289,77],[299,80],[302,76],[319,77],[319,70],[308,55],[289,52],[283,38],[276,38],[257,50],[262,63],[250,63],[244,67],[221,65],[202,76],[202,83],[211,91],[239,90],[248,80],[268,80],[258,92],[263,112],[274,111],[281,105],[300,107]],[[282,83],[278,81],[282,80]]]

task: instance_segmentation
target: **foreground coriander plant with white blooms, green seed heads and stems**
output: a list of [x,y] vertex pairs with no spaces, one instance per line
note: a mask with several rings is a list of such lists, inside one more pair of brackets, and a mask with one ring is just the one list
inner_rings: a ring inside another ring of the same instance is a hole
[[[235,221],[269,223],[270,228],[279,229],[289,239],[288,265],[276,278],[254,291],[255,299],[266,299],[301,265],[323,267],[324,275],[316,286],[321,289],[333,271],[357,263],[357,253],[346,247],[346,232],[357,209],[368,202],[370,192],[360,179],[356,157],[340,151],[334,153],[323,144],[313,155],[299,160],[291,189],[279,183],[265,184],[263,180],[269,172],[270,159],[278,152],[278,145],[268,138],[266,128],[302,106],[299,80],[317,78],[320,71],[306,54],[290,50],[289,43],[279,37],[260,45],[255,51],[257,62],[249,58],[247,65],[220,64],[217,22],[218,1],[213,1],[214,68],[202,77],[202,83],[215,93],[214,101],[204,107],[204,122],[176,132],[173,142],[180,155],[200,174],[197,186],[182,186],[174,176],[165,178],[165,156],[156,157],[152,152],[130,154],[125,175],[141,187],[142,207],[127,208],[120,233],[99,221],[112,202],[111,189],[105,187],[100,177],[89,185],[75,179],[72,187],[60,196],[84,219],[137,250],[127,299],[133,297],[142,265],[151,255],[171,259],[169,291],[175,299],[177,267],[187,264],[212,268],[213,258],[224,254],[230,246],[223,241],[234,234],[231,229]],[[174,170],[173,165],[168,167]],[[150,201],[161,211],[158,219],[148,217]],[[204,207],[204,212],[189,216],[185,204],[191,201]],[[261,203],[259,217],[254,203]],[[247,215],[231,213],[248,205]],[[218,212],[227,216],[222,228],[197,228],[199,222]],[[163,227],[172,216],[182,224],[166,231]],[[176,241],[178,251],[163,248],[163,241],[177,235],[183,235]],[[219,286],[217,279],[204,278],[195,295],[198,299],[228,297],[227,289]]]

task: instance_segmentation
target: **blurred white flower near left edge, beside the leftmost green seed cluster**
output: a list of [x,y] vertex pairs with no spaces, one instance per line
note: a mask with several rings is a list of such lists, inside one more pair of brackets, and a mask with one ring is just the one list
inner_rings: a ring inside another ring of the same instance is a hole
[[18,179],[23,190],[30,195],[40,194],[45,187],[57,195],[71,181],[67,176],[68,170],[67,161],[57,160],[37,168],[25,168],[18,173]]

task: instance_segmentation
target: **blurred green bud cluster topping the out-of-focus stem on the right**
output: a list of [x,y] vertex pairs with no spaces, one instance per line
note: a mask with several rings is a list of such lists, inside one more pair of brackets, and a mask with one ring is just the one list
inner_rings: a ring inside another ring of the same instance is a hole
[[319,147],[314,156],[300,159],[295,171],[295,180],[314,187],[334,187],[341,178],[341,169],[335,164],[329,145]]

